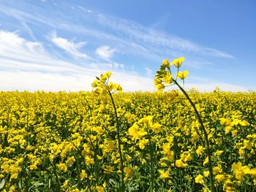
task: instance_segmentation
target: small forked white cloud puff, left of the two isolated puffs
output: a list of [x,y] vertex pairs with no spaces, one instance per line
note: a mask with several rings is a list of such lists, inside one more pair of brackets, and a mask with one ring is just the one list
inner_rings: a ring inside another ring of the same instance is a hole
[[50,35],[50,39],[52,40],[54,45],[67,51],[67,53],[71,54],[74,57],[89,58],[89,56],[86,55],[86,53],[81,53],[79,50],[81,47],[86,45],[86,42],[75,43],[62,37],[57,37],[56,32],[53,32]]

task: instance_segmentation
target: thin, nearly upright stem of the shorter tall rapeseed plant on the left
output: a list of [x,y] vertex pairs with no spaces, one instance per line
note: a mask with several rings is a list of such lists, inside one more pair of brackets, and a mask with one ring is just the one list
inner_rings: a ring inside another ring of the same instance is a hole
[[120,129],[119,129],[119,121],[118,121],[118,116],[117,116],[117,111],[116,111],[116,104],[115,101],[113,99],[112,93],[110,91],[108,91],[114,110],[115,110],[115,116],[116,116],[116,129],[117,129],[117,139],[118,139],[118,151],[119,151],[119,155],[120,155],[120,161],[121,161],[121,191],[124,191],[124,162],[123,162],[123,158],[121,155],[121,138],[120,138]]

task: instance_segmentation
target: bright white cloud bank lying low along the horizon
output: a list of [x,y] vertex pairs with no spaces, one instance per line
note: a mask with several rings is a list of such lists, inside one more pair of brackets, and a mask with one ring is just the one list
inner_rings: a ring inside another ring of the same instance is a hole
[[[113,82],[124,91],[154,91],[152,77],[140,77],[129,72],[116,72],[122,64],[88,63],[86,66],[55,58],[40,42],[23,39],[15,32],[0,30],[0,82],[4,91],[91,91],[91,82],[108,69],[113,71]],[[94,65],[95,67],[91,67]],[[152,70],[145,68],[152,74]],[[185,88],[213,91],[219,86],[224,91],[247,91],[247,88],[208,80],[201,84],[186,83]]]

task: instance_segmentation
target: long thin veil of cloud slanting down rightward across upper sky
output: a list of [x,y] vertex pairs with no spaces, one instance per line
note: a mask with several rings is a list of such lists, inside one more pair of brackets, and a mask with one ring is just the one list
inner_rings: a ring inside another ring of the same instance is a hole
[[[191,42],[171,34],[165,34],[153,28],[141,26],[131,20],[115,18],[96,11],[92,12],[84,7],[74,7],[73,11],[74,15],[77,15],[78,18],[83,15],[83,21],[86,20],[89,23],[86,26],[72,23],[72,20],[67,18],[66,15],[61,14],[55,17],[58,18],[57,20],[53,20],[44,15],[30,15],[27,12],[21,12],[11,7],[8,7],[8,9],[4,9],[4,7],[1,9],[0,7],[0,11],[11,17],[23,18],[27,22],[44,23],[53,28],[96,37],[105,42],[112,42],[112,45],[118,45],[118,50],[120,49],[126,53],[133,53],[143,57],[159,59],[163,55],[170,55],[170,53],[176,52],[179,53],[178,55],[194,53],[215,58],[234,58],[233,55],[224,51],[199,45],[196,42]],[[51,14],[54,15],[54,12]],[[104,30],[102,30],[102,26]]]

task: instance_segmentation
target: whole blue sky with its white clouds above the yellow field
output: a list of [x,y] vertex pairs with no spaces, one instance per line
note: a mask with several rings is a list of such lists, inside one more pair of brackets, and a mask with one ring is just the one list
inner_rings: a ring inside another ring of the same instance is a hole
[[0,0],[0,90],[80,91],[102,72],[153,91],[184,56],[185,88],[256,90],[256,2]]

